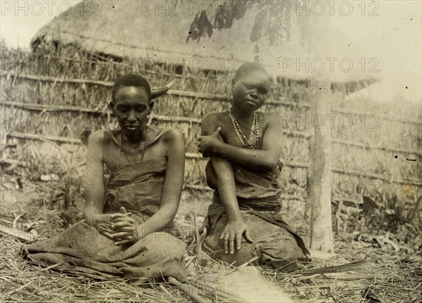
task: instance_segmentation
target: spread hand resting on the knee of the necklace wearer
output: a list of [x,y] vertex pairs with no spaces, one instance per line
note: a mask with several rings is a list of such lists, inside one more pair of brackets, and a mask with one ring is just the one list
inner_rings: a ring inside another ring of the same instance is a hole
[[249,243],[252,243],[252,238],[250,238],[250,231],[248,226],[245,224],[243,219],[235,219],[228,221],[222,236],[220,239],[223,240],[224,253],[230,254],[234,253],[234,245],[236,244],[236,249],[241,249],[242,236],[245,236],[245,240]]

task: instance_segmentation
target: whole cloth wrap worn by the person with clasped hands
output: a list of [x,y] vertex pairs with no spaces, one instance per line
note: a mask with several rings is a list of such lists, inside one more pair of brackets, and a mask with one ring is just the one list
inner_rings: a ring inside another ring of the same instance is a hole
[[[104,213],[119,212],[124,206],[137,223],[146,221],[159,209],[166,167],[167,159],[162,157],[117,168],[106,186]],[[162,231],[132,245],[116,246],[81,221],[58,236],[24,245],[21,253],[41,266],[59,264],[56,269],[84,276],[121,276],[136,281],[173,276],[184,282],[185,249],[181,240]]]

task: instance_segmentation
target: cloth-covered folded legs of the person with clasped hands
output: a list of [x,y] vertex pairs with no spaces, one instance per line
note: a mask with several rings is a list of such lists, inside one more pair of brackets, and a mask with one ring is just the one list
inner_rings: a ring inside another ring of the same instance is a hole
[[22,254],[41,266],[70,273],[133,278],[186,279],[186,245],[169,233],[151,233],[133,245],[116,246],[96,228],[79,222],[58,236],[24,245]]

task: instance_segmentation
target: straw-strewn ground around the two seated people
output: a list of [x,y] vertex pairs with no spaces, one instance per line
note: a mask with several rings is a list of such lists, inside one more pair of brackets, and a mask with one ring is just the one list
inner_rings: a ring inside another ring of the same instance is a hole
[[[16,226],[37,223],[40,238],[53,236],[80,219],[82,196],[77,195],[78,207],[70,212],[60,212],[45,205],[49,195],[46,183],[25,184],[23,190],[12,183],[1,185],[1,224],[10,226],[15,217],[25,214]],[[43,198],[44,197],[44,198]],[[186,229],[185,240],[193,242],[193,210],[201,224],[210,202],[209,192],[185,191],[181,200],[177,222]],[[291,207],[290,207],[291,208]],[[67,217],[64,213],[68,213]],[[67,218],[68,222],[65,222]],[[187,233],[186,233],[187,231]],[[166,282],[133,285],[121,278],[99,281],[95,277],[72,276],[42,269],[21,258],[21,243],[11,237],[0,238],[0,300],[2,302],[189,302],[190,298],[179,288]],[[198,266],[193,247],[186,253],[190,277],[187,285],[195,286],[199,295],[212,302],[239,302],[244,293],[244,283],[232,281],[236,276],[234,266],[219,262],[206,262]],[[328,259],[313,259],[302,271],[281,273],[259,269],[260,275],[271,288],[286,295],[284,302],[421,302],[422,259],[420,255],[407,254],[404,250],[390,250],[364,241],[337,240],[337,254]],[[360,262],[347,271],[335,268],[324,272],[321,267]],[[238,274],[239,275],[239,274]],[[227,278],[224,278],[227,277]],[[224,282],[226,281],[226,282]],[[227,282],[229,281],[229,282]],[[256,287],[256,285],[255,285]],[[257,289],[262,289],[257,288]],[[258,296],[259,297],[259,296]],[[252,298],[252,297],[251,297]],[[290,298],[290,299],[289,299]]]

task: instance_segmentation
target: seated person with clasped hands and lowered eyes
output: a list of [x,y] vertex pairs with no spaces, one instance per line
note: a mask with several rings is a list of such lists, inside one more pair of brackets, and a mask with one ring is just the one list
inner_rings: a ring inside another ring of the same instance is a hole
[[[146,279],[172,276],[184,282],[186,245],[172,230],[184,179],[185,150],[176,129],[147,126],[153,110],[143,77],[115,82],[111,110],[120,129],[89,138],[85,220],[59,236],[25,245],[41,266],[87,276]],[[112,171],[104,188],[104,165]]]

